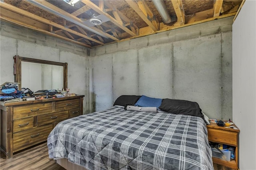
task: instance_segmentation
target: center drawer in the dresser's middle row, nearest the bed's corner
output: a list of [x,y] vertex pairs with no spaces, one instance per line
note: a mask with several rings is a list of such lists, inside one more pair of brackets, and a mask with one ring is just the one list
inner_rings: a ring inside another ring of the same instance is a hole
[[68,110],[48,113],[44,115],[38,115],[37,123],[38,123],[38,126],[42,126],[49,123],[58,122],[64,119],[68,119]]

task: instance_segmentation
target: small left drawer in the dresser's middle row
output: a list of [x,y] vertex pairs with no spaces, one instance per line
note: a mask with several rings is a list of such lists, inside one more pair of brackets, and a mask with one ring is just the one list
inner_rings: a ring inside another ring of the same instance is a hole
[[19,132],[34,127],[34,117],[27,117],[13,121],[13,132]]

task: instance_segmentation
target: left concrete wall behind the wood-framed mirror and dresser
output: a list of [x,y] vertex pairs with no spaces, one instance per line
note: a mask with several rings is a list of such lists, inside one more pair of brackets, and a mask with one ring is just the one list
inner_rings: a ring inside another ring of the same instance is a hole
[[85,95],[84,113],[90,112],[89,49],[6,22],[0,26],[1,84],[14,81],[14,55],[66,62],[70,92]]

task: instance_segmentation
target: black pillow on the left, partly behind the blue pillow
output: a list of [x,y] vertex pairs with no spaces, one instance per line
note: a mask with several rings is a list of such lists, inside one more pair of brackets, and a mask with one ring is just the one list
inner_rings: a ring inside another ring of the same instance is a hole
[[120,97],[118,97],[114,103],[115,105],[119,105],[119,106],[134,106],[135,103],[138,101],[138,99],[140,99],[141,96],[136,96],[136,95],[122,95]]

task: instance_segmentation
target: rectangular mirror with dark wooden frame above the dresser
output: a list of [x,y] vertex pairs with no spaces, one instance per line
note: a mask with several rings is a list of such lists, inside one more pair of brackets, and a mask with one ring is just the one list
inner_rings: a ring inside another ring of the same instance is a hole
[[14,56],[14,80],[19,89],[62,90],[67,88],[68,63]]

